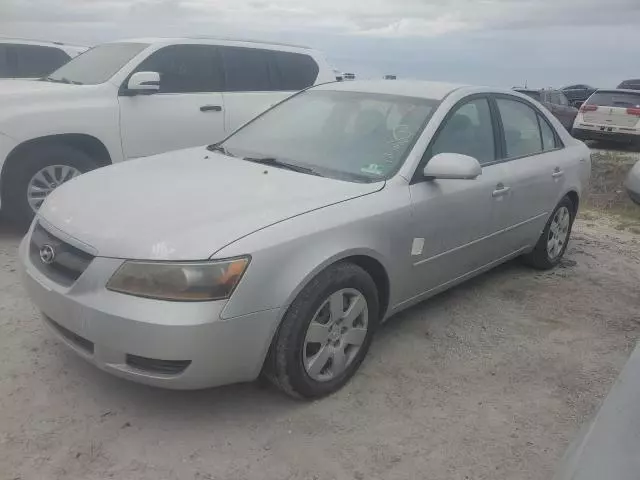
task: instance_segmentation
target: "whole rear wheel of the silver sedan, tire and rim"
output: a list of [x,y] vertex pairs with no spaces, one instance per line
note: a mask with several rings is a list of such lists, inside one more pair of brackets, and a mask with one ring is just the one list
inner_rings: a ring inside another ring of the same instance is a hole
[[525,262],[540,270],[549,270],[560,263],[569,244],[574,217],[573,202],[564,197],[551,214],[533,251],[523,257]]

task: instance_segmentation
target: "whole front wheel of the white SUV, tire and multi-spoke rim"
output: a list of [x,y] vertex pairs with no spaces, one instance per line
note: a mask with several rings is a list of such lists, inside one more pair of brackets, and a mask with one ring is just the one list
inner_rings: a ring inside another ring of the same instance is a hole
[[18,223],[29,223],[53,190],[95,168],[91,157],[73,147],[51,145],[28,150],[5,173],[8,215]]

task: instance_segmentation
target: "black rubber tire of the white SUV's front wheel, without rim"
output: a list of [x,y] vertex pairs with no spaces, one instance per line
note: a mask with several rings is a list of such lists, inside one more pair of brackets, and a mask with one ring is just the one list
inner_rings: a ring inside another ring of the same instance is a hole
[[[16,223],[26,225],[31,222],[35,211],[29,204],[29,183],[36,173],[46,167],[61,165],[85,173],[98,167],[89,155],[73,147],[51,145],[27,150],[5,173],[3,179],[6,191],[3,197],[3,210]],[[62,183],[62,182],[60,182]]]

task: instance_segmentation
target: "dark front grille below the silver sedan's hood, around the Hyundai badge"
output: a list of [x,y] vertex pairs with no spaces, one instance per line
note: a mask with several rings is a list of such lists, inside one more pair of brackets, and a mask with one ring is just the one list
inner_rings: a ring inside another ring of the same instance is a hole
[[[42,249],[46,246],[49,246],[53,251],[51,263],[45,263],[41,256]],[[36,224],[31,234],[29,256],[31,263],[38,270],[54,282],[64,286],[73,284],[95,258],[52,235],[40,223]]]

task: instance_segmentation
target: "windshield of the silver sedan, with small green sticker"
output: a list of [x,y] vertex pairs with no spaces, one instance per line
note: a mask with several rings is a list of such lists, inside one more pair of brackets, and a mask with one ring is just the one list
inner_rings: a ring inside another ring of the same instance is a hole
[[398,171],[437,100],[310,90],[222,143],[231,155],[273,158],[327,177],[379,181]]

